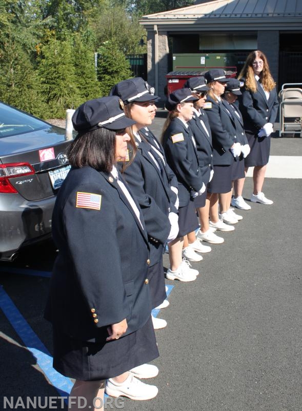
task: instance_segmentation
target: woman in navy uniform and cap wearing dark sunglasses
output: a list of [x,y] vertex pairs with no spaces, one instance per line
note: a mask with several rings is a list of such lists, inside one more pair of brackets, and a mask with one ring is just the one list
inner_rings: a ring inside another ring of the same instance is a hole
[[[189,87],[192,94],[198,98],[198,100],[193,103],[193,118],[188,122],[188,124],[192,130],[196,142],[200,173],[202,174],[203,182],[207,187],[214,174],[211,128],[207,113],[203,109],[206,103],[209,88],[207,87],[207,80],[204,76],[191,77],[187,80],[184,87]],[[199,240],[199,244],[202,240],[210,242],[211,244],[222,244],[224,242],[224,239],[222,237],[218,237],[209,226],[211,198],[212,194],[209,193],[208,190],[206,190],[201,196],[194,198],[195,208],[197,209],[200,221],[200,230],[197,233],[197,240]],[[210,247],[207,249],[205,248],[207,246],[203,246],[202,244],[200,244],[202,247],[199,247],[198,242],[195,242],[194,231],[188,234],[188,242],[189,247],[193,247],[195,251],[211,251]]]

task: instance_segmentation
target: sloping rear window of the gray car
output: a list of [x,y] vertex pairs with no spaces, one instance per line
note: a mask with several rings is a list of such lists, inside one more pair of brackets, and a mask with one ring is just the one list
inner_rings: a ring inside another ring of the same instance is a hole
[[43,121],[0,103],[0,138],[30,133],[42,128],[47,128]]

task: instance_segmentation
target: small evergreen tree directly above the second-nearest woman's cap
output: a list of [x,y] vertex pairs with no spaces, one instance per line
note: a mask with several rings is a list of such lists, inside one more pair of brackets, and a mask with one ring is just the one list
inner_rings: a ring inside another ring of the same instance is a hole
[[102,95],[108,96],[114,84],[133,77],[133,73],[124,53],[118,49],[114,41],[104,42],[98,49],[98,53],[97,76]]

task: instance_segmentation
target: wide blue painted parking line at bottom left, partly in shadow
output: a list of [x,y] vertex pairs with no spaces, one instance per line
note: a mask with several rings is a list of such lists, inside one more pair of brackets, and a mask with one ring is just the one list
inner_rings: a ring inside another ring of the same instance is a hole
[[68,397],[73,383],[52,367],[52,357],[49,351],[39,340],[2,286],[0,286],[0,308],[26,348],[36,359],[37,365],[42,369],[49,382],[56,388],[61,397]]

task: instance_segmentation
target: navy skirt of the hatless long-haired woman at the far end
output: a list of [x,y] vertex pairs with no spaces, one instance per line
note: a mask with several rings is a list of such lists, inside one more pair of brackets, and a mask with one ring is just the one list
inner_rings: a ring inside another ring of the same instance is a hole
[[269,162],[271,137],[258,137],[258,134],[252,134],[246,131],[249,146],[251,147],[250,154],[245,158],[246,167],[254,167],[255,165],[266,165]]

